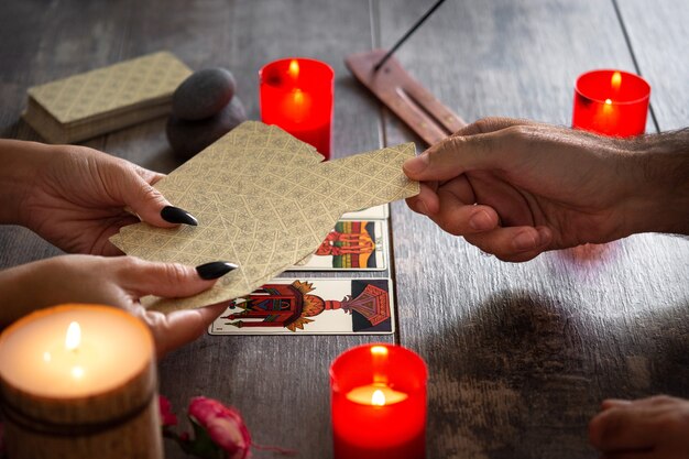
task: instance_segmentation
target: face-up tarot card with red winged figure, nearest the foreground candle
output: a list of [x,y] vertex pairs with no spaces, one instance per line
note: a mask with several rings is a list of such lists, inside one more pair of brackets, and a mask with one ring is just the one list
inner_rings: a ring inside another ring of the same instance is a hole
[[210,335],[387,335],[394,331],[389,278],[275,278],[237,298]]

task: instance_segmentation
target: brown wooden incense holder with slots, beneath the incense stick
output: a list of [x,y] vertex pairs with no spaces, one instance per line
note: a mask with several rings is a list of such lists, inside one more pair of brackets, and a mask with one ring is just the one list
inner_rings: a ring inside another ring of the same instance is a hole
[[350,54],[344,63],[359,81],[429,145],[467,125],[407,74],[394,57],[390,57],[378,72],[374,70],[384,55],[385,50]]

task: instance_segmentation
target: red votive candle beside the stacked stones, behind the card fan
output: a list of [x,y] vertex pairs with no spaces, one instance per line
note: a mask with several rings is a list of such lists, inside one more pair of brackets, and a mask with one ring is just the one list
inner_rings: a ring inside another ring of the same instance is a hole
[[262,121],[330,159],[333,76],[328,64],[315,59],[294,57],[266,64],[259,73]]

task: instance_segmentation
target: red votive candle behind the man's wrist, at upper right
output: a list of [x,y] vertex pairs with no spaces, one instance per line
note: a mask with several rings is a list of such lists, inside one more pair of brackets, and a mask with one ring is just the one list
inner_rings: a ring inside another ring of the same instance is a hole
[[628,72],[591,70],[577,78],[572,128],[633,136],[646,130],[650,85]]

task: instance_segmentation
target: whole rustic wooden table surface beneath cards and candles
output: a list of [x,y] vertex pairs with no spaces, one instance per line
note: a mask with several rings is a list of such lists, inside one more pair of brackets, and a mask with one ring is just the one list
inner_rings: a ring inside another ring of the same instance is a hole
[[[405,141],[425,146],[347,72],[349,53],[389,47],[433,0],[6,0],[0,3],[0,135],[40,140],[26,88],[169,50],[194,69],[225,66],[259,119],[256,73],[284,56],[336,70],[335,156]],[[641,73],[648,132],[689,125],[685,0],[450,0],[397,53],[471,121],[571,121],[577,75]],[[158,119],[85,144],[161,172]],[[0,166],[1,167],[1,166]],[[510,264],[392,205],[398,327],[385,341],[429,367],[427,457],[592,458],[587,424],[604,397],[689,397],[689,240],[642,234]],[[0,266],[59,253],[0,229]],[[194,395],[237,406],[256,442],[331,456],[329,362],[380,337],[211,337],[160,363],[179,409]],[[166,445],[168,458],[183,455]],[[272,452],[254,451],[256,458]]]

